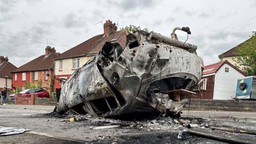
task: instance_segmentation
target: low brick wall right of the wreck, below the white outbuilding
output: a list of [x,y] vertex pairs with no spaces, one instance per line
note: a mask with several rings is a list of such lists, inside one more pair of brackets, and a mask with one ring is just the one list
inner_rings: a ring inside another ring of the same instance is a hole
[[[185,109],[188,109],[188,104]],[[256,111],[256,101],[191,99],[190,110]]]

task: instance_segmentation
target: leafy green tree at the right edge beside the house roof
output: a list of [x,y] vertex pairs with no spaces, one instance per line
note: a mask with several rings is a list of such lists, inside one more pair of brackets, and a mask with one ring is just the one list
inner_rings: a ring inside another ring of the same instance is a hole
[[237,56],[234,58],[236,66],[247,75],[256,75],[256,31],[242,46],[236,49]]

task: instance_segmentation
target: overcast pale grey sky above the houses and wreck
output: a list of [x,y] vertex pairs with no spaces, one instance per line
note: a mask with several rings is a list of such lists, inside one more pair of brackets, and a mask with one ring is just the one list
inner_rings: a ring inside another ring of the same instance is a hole
[[[256,30],[256,1],[12,1],[0,0],[0,55],[19,67],[44,54],[48,39],[65,52],[94,35],[110,19],[118,29],[140,26],[170,36],[188,26],[188,43],[198,46],[205,65],[244,42]],[[185,41],[186,33],[178,33]]]

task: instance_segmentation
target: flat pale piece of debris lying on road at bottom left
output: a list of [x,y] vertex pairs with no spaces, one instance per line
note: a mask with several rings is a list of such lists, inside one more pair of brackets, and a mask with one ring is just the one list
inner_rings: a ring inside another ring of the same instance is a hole
[[28,129],[24,129],[22,127],[0,127],[0,136],[20,134],[30,131]]

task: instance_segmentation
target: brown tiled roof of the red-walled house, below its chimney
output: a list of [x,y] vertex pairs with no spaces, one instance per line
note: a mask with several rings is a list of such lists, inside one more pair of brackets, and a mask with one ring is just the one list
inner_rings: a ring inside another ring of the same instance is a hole
[[57,57],[60,53],[51,53],[47,57],[45,55],[41,55],[40,57],[29,61],[25,65],[15,69],[12,71],[14,72],[21,72],[21,71],[36,71],[36,70],[47,70],[54,68],[54,61],[53,58]]

